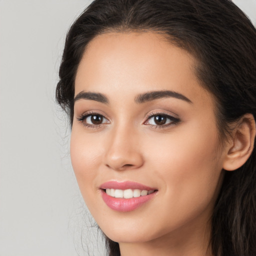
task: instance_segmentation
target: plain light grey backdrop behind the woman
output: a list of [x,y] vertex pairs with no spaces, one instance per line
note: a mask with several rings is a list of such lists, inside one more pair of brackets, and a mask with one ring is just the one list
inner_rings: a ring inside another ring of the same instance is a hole
[[[65,33],[89,2],[0,0],[0,256],[104,254],[54,103]],[[256,0],[234,2],[255,25]]]

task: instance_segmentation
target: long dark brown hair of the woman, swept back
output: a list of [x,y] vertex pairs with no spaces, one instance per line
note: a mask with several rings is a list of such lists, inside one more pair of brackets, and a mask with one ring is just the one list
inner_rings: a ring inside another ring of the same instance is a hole
[[[198,60],[197,76],[216,101],[218,130],[245,113],[256,117],[256,30],[230,0],[95,0],[65,41],[56,99],[73,119],[74,79],[84,49],[106,31],[155,31]],[[226,172],[212,215],[214,256],[256,255],[256,150]],[[106,237],[109,256],[120,255]]]

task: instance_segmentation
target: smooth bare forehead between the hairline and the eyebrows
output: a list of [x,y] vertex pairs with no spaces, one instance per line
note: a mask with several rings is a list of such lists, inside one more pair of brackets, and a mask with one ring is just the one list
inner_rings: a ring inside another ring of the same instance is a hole
[[75,94],[114,91],[128,96],[171,89],[198,97],[199,91],[206,91],[195,75],[196,64],[190,53],[159,33],[104,33],[86,46],[76,73]]

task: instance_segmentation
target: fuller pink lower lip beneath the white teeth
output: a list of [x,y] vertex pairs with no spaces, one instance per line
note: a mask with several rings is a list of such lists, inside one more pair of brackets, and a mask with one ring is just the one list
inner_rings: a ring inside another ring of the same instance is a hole
[[122,212],[131,211],[138,208],[142,204],[152,199],[155,193],[156,191],[154,191],[151,194],[125,199],[125,198],[112,197],[106,194],[104,190],[101,190],[101,196],[103,201],[106,203],[106,205],[113,210],[122,211]]

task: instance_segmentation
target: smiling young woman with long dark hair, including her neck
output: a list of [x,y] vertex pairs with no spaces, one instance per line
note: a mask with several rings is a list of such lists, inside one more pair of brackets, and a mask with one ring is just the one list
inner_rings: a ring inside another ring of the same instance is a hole
[[256,30],[230,0],[95,0],[56,88],[109,255],[256,255]]

